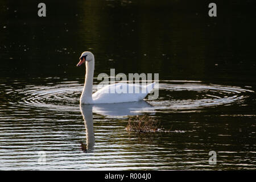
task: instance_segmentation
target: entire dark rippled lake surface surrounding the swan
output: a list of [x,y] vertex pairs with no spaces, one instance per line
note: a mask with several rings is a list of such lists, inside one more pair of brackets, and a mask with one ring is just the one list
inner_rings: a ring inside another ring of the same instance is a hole
[[[255,169],[252,2],[1,1],[0,169]],[[94,77],[159,73],[158,99],[80,107],[83,51]],[[173,132],[127,133],[134,115]]]

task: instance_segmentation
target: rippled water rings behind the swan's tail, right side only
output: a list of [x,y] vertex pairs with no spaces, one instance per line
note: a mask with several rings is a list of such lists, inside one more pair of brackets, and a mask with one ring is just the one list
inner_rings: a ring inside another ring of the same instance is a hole
[[[235,86],[200,84],[199,81],[166,82],[159,84],[159,100],[151,102],[156,109],[177,111],[229,105],[242,102],[254,92]],[[170,84],[169,82],[183,82],[183,84]]]

